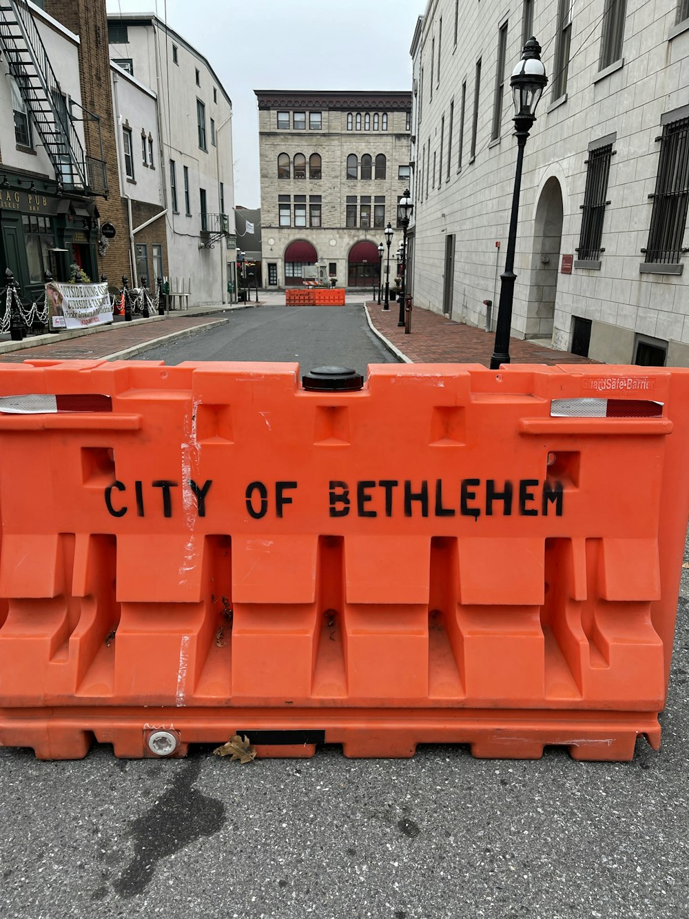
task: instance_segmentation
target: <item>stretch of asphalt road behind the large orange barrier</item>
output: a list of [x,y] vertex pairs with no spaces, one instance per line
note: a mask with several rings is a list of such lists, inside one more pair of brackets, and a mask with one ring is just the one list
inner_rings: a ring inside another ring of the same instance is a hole
[[263,306],[235,310],[229,322],[137,355],[138,360],[298,361],[302,372],[316,367],[351,367],[397,358],[368,328],[362,306]]

